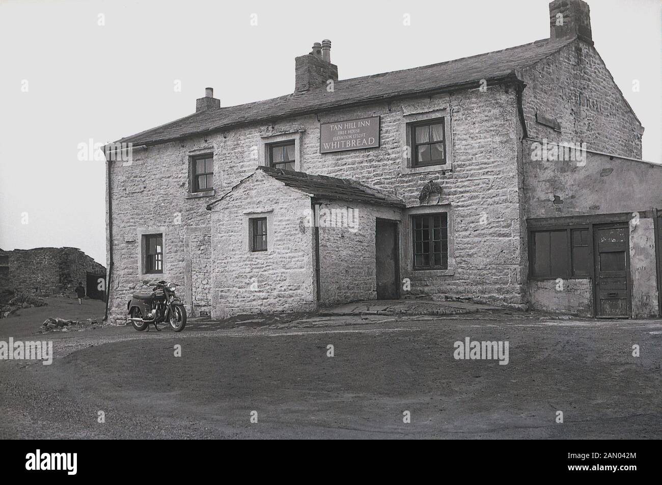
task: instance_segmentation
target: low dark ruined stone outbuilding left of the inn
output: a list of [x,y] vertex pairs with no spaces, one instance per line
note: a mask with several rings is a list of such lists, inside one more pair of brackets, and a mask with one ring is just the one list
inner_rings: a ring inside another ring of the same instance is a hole
[[78,248],[0,250],[0,292],[60,295],[82,282],[93,299],[106,299],[106,268]]

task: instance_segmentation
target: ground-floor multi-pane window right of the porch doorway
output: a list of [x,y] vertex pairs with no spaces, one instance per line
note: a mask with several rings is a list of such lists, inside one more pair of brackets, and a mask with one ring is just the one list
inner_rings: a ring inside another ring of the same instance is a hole
[[412,216],[414,270],[448,269],[448,213]]

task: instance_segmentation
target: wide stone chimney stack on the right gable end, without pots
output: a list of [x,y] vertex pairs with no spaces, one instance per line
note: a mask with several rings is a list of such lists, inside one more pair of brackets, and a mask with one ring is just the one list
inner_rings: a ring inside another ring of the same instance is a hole
[[582,0],[554,0],[549,3],[549,39],[579,37],[593,43],[589,4]]

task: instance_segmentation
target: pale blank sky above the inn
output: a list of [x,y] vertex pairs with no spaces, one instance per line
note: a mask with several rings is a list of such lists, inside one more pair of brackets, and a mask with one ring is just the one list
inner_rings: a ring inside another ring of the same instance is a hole
[[[340,79],[516,46],[549,37],[547,5],[0,0],[0,247],[74,246],[105,264],[105,167],[79,162],[77,145],[189,115],[207,86],[224,106],[290,93],[295,56],[324,38]],[[643,158],[661,160],[661,2],[589,5],[595,46],[645,127]]]

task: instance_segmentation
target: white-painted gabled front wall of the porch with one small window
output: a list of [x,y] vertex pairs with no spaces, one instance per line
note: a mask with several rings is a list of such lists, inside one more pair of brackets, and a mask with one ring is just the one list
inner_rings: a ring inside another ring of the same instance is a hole
[[[310,197],[256,172],[214,205],[215,318],[316,307]],[[267,251],[252,252],[249,219],[267,217]]]

